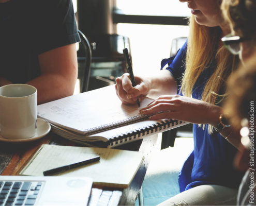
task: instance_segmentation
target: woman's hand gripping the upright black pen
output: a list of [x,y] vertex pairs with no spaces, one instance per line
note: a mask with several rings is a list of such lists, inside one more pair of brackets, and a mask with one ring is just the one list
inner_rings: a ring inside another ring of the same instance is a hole
[[123,74],[116,78],[115,90],[116,94],[124,104],[137,104],[137,97],[145,96],[150,90],[150,82],[138,76],[134,76],[137,85],[132,87],[130,75]]

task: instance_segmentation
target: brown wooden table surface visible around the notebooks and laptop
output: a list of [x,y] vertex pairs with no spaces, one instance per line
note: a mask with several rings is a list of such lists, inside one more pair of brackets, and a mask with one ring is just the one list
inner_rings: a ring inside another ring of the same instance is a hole
[[[141,164],[137,174],[132,180],[128,188],[121,190],[122,196],[119,199],[119,205],[134,205],[137,198],[142,182],[144,180],[146,170],[152,156],[152,152],[155,148],[157,141],[157,135],[146,136],[143,140],[131,142],[122,146],[116,147],[117,149],[140,151],[144,155],[144,161]],[[35,152],[42,144],[54,144],[54,145],[70,145],[77,144],[72,143],[69,140],[61,138],[54,133],[49,133],[44,138],[35,142],[27,143],[4,143],[0,142],[0,174],[1,175],[18,175],[19,169],[24,165],[27,159]],[[115,192],[120,190],[114,188],[96,187],[93,186],[91,199],[97,195],[98,191]],[[102,202],[102,205],[108,202]]]

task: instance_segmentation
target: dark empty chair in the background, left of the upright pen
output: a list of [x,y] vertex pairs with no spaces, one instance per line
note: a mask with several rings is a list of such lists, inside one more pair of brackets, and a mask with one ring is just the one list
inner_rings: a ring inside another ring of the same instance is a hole
[[129,38],[117,34],[93,34],[86,36],[92,46],[91,75],[88,90],[114,84],[117,77],[127,72],[123,49],[128,48]]

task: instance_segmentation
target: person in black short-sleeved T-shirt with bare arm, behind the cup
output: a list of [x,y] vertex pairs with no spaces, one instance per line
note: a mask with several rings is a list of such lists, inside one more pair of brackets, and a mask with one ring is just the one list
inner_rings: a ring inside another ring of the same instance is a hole
[[27,83],[38,104],[73,94],[80,41],[71,0],[0,0],[0,86]]

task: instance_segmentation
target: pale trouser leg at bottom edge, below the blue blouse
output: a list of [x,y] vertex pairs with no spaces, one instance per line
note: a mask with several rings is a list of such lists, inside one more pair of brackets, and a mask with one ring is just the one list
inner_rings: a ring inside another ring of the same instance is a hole
[[220,185],[200,185],[159,205],[236,205],[237,190]]

